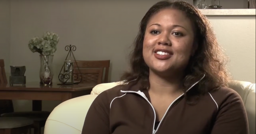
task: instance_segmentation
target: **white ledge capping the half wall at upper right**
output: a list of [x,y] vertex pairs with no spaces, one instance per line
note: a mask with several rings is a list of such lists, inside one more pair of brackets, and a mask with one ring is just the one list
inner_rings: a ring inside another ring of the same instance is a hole
[[255,16],[255,9],[200,9],[206,16]]

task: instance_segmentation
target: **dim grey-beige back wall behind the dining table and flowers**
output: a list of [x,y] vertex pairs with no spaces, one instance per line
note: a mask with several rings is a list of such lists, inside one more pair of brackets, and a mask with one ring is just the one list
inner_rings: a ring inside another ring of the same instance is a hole
[[[140,19],[157,0],[100,2],[81,0],[11,0],[10,65],[26,65],[27,81],[39,81],[39,55],[32,53],[28,41],[45,31],[59,34],[54,57],[54,82],[67,52],[76,45],[76,60],[111,60],[110,81],[118,81],[127,68],[127,54],[138,30]],[[133,8],[133,9],[132,9]],[[43,110],[59,102],[43,101]],[[31,110],[31,101],[14,101],[17,111]]]

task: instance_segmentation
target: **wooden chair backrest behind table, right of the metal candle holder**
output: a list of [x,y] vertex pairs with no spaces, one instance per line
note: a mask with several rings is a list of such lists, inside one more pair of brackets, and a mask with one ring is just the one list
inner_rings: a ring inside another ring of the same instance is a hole
[[[74,73],[78,73],[78,80],[76,81],[79,81],[79,77],[82,76],[81,83],[108,83],[110,60],[77,60],[76,63],[74,62]],[[81,74],[79,74],[78,67]],[[77,76],[74,76],[76,79]]]

